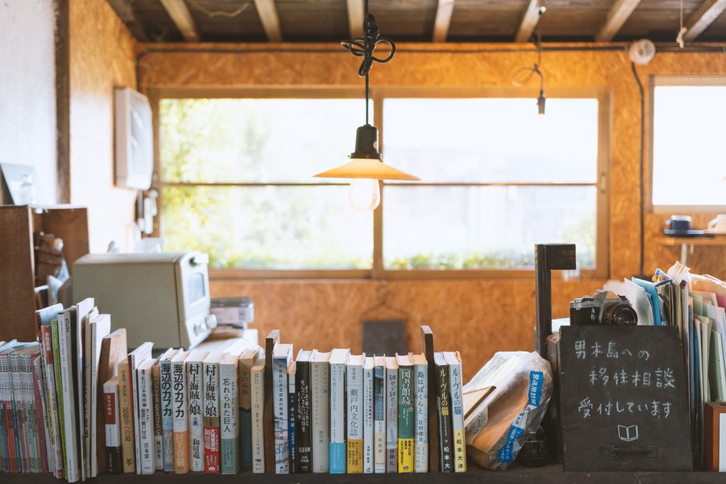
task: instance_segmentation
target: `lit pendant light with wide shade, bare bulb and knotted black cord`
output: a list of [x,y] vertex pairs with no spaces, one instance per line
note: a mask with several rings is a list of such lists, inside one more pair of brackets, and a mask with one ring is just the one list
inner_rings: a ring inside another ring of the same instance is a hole
[[[373,55],[378,44],[391,46],[391,53],[386,58]],[[365,78],[365,124],[356,130],[356,147],[348,157],[351,161],[332,170],[315,175],[318,178],[351,179],[348,201],[359,210],[373,210],[380,204],[379,180],[409,180],[418,178],[409,173],[383,163],[383,156],[378,151],[378,128],[369,123],[368,100],[370,88],[368,73],[373,62],[386,64],[396,54],[396,44],[390,38],[380,36],[375,17],[368,13],[368,0],[364,3],[363,36],[351,41],[340,43],[344,49],[356,57],[363,57],[358,75]]]

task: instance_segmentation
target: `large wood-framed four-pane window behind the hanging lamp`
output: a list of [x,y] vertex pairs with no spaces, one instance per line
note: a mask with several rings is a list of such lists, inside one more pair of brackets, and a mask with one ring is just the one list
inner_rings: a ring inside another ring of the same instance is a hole
[[154,94],[166,249],[213,268],[528,276],[536,243],[574,242],[579,269],[606,274],[599,93],[550,94],[539,116],[531,98],[372,91],[384,160],[422,179],[383,184],[375,217],[348,205],[345,181],[312,178],[351,151],[359,92]]

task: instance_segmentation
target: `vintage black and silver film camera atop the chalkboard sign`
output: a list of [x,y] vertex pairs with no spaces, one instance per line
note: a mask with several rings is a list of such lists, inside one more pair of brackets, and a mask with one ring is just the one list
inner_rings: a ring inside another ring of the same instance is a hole
[[625,296],[596,290],[594,296],[584,296],[570,303],[570,324],[571,326],[582,324],[635,326],[637,314]]

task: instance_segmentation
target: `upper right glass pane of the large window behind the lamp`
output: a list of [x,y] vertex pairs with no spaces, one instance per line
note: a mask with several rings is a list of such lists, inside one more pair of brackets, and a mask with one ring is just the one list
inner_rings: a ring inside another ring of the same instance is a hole
[[386,163],[429,182],[594,183],[597,99],[385,99]]

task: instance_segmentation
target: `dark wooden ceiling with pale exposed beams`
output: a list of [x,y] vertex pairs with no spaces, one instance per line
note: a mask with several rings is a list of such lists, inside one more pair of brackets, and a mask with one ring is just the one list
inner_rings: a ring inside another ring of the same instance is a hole
[[[341,41],[364,0],[107,0],[139,41]],[[539,7],[546,12],[539,17]],[[370,0],[394,41],[726,41],[726,0]]]

